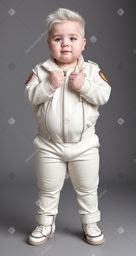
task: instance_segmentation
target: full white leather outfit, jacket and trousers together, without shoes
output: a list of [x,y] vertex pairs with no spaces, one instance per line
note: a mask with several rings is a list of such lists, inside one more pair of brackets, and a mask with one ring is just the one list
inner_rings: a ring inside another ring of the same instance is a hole
[[[77,193],[80,217],[89,214],[88,223],[100,220],[97,200],[100,144],[95,123],[98,105],[108,101],[111,87],[99,74],[98,65],[88,62],[80,55],[75,69],[63,71],[50,55],[32,70],[26,83],[25,97],[36,105],[33,116],[38,125],[33,145],[41,201],[35,219],[39,224],[47,224],[53,220],[51,216],[56,217],[67,170]],[[74,90],[69,76],[80,69],[85,84]],[[64,75],[62,86],[55,90],[48,81],[53,70],[61,70]]]

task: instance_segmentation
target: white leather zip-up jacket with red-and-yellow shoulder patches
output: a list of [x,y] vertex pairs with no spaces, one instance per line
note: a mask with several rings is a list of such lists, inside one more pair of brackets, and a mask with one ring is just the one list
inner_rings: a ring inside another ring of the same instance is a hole
[[[72,71],[81,69],[85,84],[80,90],[75,90],[69,84],[69,76]],[[48,81],[53,70],[61,70],[64,76],[58,89],[53,89]],[[111,92],[110,85],[99,71],[99,66],[90,60],[85,62],[82,54],[74,69],[63,71],[51,54],[32,69],[25,83],[25,97],[29,104],[36,105],[33,116],[39,135],[57,143],[72,143],[95,134],[98,106],[108,101]],[[97,135],[96,138],[98,140]]]

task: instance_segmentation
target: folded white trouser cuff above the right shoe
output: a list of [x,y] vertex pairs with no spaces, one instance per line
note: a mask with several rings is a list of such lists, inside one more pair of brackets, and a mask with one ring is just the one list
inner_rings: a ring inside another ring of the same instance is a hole
[[79,214],[81,224],[95,223],[100,220],[100,211],[90,214]]

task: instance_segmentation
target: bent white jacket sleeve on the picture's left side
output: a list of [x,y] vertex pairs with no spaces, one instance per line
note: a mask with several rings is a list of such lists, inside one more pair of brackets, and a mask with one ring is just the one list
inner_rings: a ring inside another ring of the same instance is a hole
[[39,83],[36,68],[32,69],[32,74],[25,86],[25,97],[29,104],[38,105],[53,97],[56,89],[51,87],[49,80]]

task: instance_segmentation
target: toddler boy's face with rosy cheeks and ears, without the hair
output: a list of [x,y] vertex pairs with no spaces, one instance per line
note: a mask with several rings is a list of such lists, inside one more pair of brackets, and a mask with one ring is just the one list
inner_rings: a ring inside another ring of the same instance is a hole
[[[62,63],[72,63],[80,57],[84,50],[86,39],[82,39],[77,22],[65,21],[64,23],[55,23],[53,25],[47,43],[49,51],[56,60]],[[69,52],[62,52],[64,50]]]

